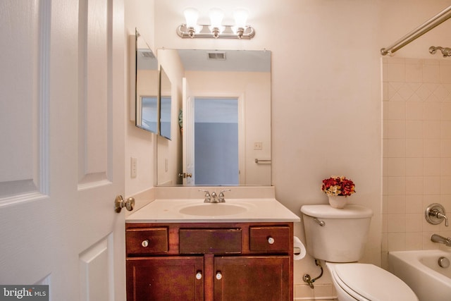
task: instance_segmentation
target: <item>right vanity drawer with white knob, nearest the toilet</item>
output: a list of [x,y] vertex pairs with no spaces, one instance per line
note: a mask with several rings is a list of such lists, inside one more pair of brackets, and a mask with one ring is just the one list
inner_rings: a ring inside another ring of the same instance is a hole
[[290,227],[253,226],[249,228],[249,249],[252,252],[290,252]]

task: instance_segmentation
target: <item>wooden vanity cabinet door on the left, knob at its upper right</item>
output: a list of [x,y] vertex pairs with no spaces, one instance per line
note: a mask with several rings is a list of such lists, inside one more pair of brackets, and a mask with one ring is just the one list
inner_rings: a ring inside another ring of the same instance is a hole
[[204,257],[128,258],[127,300],[204,300]]

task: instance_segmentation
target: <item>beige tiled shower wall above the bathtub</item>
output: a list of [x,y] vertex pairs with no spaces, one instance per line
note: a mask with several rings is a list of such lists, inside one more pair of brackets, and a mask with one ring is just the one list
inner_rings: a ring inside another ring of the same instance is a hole
[[[383,58],[382,264],[395,250],[443,247],[424,211],[443,204],[451,219],[451,58]],[[448,248],[449,249],[449,248]]]

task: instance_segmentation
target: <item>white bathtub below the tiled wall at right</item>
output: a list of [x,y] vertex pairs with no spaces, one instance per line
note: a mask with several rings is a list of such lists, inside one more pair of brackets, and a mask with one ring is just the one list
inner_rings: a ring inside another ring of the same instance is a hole
[[451,262],[451,250],[389,252],[388,268],[412,288],[420,301],[450,301],[451,266],[440,267],[440,257]]

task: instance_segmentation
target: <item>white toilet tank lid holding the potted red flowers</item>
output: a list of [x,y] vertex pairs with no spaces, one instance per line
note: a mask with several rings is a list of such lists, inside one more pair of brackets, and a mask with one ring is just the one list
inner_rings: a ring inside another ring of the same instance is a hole
[[371,209],[359,205],[347,205],[343,209],[336,209],[327,204],[304,205],[301,212],[322,219],[365,219],[373,216]]

